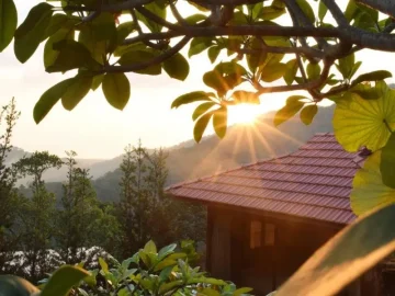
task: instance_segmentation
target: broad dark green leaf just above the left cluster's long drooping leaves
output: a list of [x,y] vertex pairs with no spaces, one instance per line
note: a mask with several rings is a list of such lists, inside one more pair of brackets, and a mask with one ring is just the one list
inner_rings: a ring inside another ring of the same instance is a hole
[[53,65],[46,68],[47,72],[66,72],[68,70],[87,68],[97,69],[100,65],[91,57],[90,52],[81,43],[72,39],[63,39],[53,45],[59,52]]

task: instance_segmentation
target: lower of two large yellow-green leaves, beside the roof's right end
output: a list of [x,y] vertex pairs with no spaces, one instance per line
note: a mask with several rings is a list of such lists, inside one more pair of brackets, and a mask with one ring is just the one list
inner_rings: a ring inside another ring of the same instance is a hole
[[370,156],[354,177],[350,200],[351,208],[357,215],[395,202],[395,190],[384,185],[382,181],[381,155],[382,151],[379,150]]

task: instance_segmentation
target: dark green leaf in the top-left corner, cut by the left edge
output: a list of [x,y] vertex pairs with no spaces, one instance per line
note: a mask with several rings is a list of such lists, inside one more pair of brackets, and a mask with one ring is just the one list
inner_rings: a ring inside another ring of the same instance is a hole
[[18,25],[18,13],[13,0],[0,1],[0,53],[11,43]]

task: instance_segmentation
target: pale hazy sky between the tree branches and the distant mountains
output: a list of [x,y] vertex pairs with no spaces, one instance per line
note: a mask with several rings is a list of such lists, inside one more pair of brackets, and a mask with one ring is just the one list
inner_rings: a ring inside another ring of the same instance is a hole
[[[27,11],[38,1],[16,0],[20,22]],[[387,69],[394,72],[395,54],[364,52],[359,54],[363,61],[360,72]],[[58,103],[47,117],[36,125],[33,107],[41,94],[53,84],[65,79],[61,75],[48,75],[43,66],[43,46],[25,65],[21,65],[13,54],[13,46],[0,54],[0,105],[15,96],[18,109],[22,112],[15,128],[13,144],[29,151],[49,150],[64,155],[65,150],[76,150],[81,158],[112,158],[123,151],[128,143],[143,144],[154,148],[171,146],[192,137],[191,114],[194,106],[170,110],[178,95],[204,90],[202,73],[212,69],[206,57],[193,57],[188,81],[181,82],[161,76],[128,75],[132,96],[124,111],[111,107],[101,89],[90,92],[72,111],[65,111]],[[276,109],[284,102],[286,94],[269,94],[261,98],[258,113]],[[235,123],[240,111],[232,109],[229,121]],[[257,113],[257,112],[256,112]],[[211,129],[212,130],[212,129]]]

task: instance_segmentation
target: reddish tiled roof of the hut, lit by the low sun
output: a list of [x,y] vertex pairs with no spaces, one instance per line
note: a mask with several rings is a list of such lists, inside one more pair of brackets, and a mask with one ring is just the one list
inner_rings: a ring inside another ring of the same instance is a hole
[[168,193],[184,200],[261,209],[349,224],[352,179],[363,159],[346,152],[332,134],[316,134],[297,151],[178,184]]

